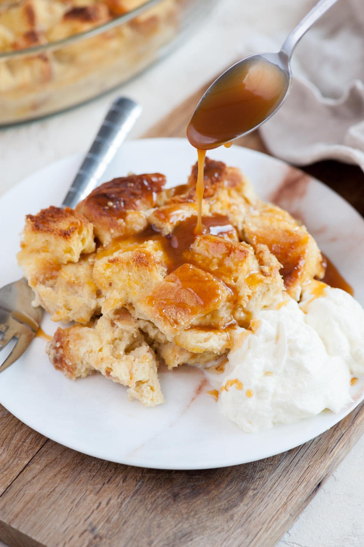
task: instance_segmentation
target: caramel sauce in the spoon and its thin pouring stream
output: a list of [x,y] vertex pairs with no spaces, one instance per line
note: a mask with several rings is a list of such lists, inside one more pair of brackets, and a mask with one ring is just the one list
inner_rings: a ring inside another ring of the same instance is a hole
[[214,83],[199,102],[187,127],[187,138],[197,148],[198,177],[196,234],[202,230],[203,168],[206,150],[249,132],[271,114],[287,90],[287,74],[265,59],[237,63]]

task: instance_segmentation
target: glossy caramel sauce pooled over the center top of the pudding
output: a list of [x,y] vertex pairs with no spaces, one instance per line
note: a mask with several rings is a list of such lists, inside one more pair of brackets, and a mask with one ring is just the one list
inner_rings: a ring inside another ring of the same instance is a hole
[[[220,277],[225,275],[229,279],[230,270],[222,267],[219,271],[215,271],[215,265],[210,264],[209,257],[192,251],[193,242],[201,237],[195,235],[196,219],[196,216],[187,218],[177,224],[168,235],[163,235],[153,226],[148,226],[144,231],[131,237],[114,238],[108,247],[99,249],[96,258],[111,258],[111,255],[120,249],[128,251],[129,248],[142,245],[146,241],[156,241],[164,255],[163,264],[167,266],[167,277],[165,283],[157,286],[150,294],[148,304],[153,306],[161,316],[170,316],[171,321],[173,310],[192,315],[203,310],[207,314],[216,309],[219,302],[234,301],[237,295],[234,284],[225,283]],[[228,218],[219,214],[213,217],[202,217],[202,233],[224,236],[227,239],[236,236],[236,230]],[[143,253],[140,247],[139,251]],[[235,326],[236,321],[233,317],[229,317],[224,325],[214,326],[212,323],[201,328],[198,326],[198,328],[221,331]]]

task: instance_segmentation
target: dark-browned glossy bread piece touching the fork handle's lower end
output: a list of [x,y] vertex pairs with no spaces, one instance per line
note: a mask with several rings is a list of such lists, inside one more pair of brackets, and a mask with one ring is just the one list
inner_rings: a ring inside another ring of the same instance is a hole
[[114,178],[95,188],[76,210],[92,222],[103,245],[114,237],[136,234],[148,225],[148,211],[158,205],[166,177],[160,173]]

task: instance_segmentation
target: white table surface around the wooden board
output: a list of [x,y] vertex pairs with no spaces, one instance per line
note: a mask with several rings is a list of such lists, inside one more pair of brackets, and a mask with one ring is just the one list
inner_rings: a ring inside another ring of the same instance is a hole
[[[300,19],[307,0],[221,0],[189,41],[130,84],[56,117],[0,130],[0,195],[27,174],[87,149],[116,95],[143,104],[132,137],[142,135],[230,61],[250,53],[251,30],[279,36]],[[263,14],[263,15],[262,15]],[[254,43],[256,43],[256,36]],[[201,63],[195,51],[206,51]],[[163,84],[161,85],[161,82]],[[364,437],[351,449],[277,547],[364,545]],[[1,545],[1,544],[0,544]]]

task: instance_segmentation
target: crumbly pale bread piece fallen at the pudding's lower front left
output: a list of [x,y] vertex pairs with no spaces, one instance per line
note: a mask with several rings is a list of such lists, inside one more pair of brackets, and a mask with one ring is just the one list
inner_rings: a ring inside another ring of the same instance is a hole
[[98,371],[128,386],[130,399],[145,406],[163,403],[155,354],[126,310],[111,321],[99,318],[93,327],[58,328],[46,351],[55,368],[68,378]]

